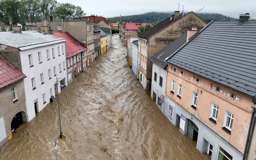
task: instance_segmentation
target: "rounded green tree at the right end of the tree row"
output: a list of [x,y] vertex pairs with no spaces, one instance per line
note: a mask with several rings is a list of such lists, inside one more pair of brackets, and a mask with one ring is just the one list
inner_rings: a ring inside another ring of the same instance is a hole
[[75,6],[70,3],[62,3],[57,8],[56,14],[60,18],[71,18],[80,19],[82,16],[85,16],[86,13],[80,6]]

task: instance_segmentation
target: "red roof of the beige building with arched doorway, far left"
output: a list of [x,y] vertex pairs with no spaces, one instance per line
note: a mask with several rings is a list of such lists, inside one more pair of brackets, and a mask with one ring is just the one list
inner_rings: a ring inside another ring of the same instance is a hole
[[0,55],[0,90],[26,76]]

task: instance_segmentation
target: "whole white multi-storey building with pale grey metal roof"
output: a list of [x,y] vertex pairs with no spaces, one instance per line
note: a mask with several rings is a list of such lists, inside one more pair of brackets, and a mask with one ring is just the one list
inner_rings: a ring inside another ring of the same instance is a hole
[[68,85],[65,39],[39,31],[0,32],[0,55],[26,75],[27,121]]

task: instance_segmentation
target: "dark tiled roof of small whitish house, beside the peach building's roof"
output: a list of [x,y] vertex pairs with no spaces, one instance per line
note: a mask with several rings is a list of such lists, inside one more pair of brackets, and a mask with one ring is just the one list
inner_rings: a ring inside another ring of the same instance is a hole
[[184,43],[187,42],[187,32],[183,33],[179,38],[175,39],[169,45],[164,47],[162,50],[157,52],[155,55],[149,58],[150,61],[158,64],[159,66],[165,68],[168,66],[166,58],[173,54],[177,49],[179,49]]

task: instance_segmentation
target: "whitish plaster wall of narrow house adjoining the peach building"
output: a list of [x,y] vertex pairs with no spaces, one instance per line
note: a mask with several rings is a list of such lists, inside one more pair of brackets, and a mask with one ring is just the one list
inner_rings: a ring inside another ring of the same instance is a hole
[[[154,72],[157,73],[157,81],[154,80]],[[159,85],[160,76],[163,77],[163,86]],[[153,99],[153,91],[156,93],[156,104],[158,97],[163,95],[165,97],[166,93],[166,80],[167,80],[167,70],[164,70],[162,67],[153,62],[152,65],[152,77],[151,77],[151,96]],[[161,111],[164,112],[164,104],[165,98],[163,99],[164,103],[162,103]],[[160,108],[160,107],[159,107]]]

